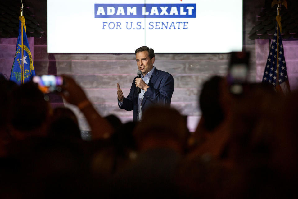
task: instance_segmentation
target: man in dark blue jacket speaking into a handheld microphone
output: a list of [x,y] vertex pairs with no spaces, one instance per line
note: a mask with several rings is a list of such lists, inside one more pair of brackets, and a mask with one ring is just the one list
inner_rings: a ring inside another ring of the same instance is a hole
[[135,54],[141,78],[138,76],[134,78],[126,98],[123,97],[122,89],[117,83],[117,94],[120,109],[133,110],[133,121],[140,121],[142,112],[148,107],[154,104],[170,106],[174,92],[174,78],[168,72],[153,66],[155,61],[153,49],[142,46],[136,49]]

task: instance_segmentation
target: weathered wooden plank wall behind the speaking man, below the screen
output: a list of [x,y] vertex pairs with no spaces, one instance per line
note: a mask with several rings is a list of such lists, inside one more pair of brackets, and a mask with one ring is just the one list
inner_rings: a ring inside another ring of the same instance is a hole
[[[123,121],[132,119],[132,112],[118,108],[116,83],[120,84],[125,96],[129,94],[137,71],[134,53],[54,54],[55,59],[49,60],[46,48],[45,45],[34,45],[38,52],[34,59],[37,74],[47,74],[48,66],[56,64],[57,74],[73,76],[102,115],[115,114]],[[227,63],[228,54],[156,54],[154,65],[174,77],[172,107],[196,122],[201,115],[197,103],[201,84],[210,76],[224,76]],[[74,110],[83,121],[78,110]],[[81,126],[88,130],[84,122]]]

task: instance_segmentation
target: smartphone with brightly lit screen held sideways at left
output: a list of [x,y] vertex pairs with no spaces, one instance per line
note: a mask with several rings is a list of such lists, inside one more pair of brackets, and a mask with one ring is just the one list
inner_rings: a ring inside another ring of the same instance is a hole
[[63,84],[63,78],[61,76],[55,75],[42,75],[42,76],[34,76],[32,78],[34,83],[38,84],[38,88],[43,93],[50,93],[61,91],[61,85]]

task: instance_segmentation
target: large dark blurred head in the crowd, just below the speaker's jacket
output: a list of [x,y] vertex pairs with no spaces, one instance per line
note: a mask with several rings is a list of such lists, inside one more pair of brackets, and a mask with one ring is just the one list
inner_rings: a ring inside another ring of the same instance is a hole
[[165,106],[148,108],[134,130],[140,149],[174,147],[184,150],[189,131],[186,118]]

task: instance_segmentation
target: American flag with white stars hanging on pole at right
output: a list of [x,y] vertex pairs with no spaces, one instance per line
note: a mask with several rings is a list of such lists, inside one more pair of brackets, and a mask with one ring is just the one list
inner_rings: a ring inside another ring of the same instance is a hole
[[[278,46],[279,48],[277,48]],[[282,37],[280,30],[276,25],[276,30],[270,46],[270,52],[268,55],[262,83],[272,84],[276,90],[282,92],[284,95],[287,95],[287,93],[290,92],[290,84],[283,51]]]

